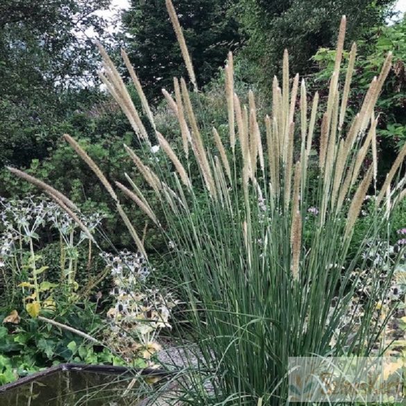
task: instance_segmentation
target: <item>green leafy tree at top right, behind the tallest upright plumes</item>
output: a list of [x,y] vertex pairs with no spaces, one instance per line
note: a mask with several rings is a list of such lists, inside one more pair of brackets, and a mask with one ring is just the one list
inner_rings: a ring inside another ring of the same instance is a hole
[[289,49],[292,71],[305,74],[310,58],[321,46],[335,44],[342,15],[348,17],[347,41],[359,39],[380,25],[394,0],[241,0],[239,15],[248,32],[246,56],[259,65],[266,85],[278,73],[284,49]]

